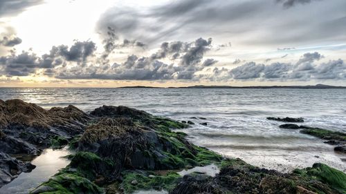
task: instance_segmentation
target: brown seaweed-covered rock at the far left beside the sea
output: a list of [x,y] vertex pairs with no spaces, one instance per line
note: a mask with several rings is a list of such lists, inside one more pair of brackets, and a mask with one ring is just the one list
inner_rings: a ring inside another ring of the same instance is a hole
[[90,120],[86,113],[71,105],[45,110],[20,99],[2,101],[0,118],[0,126],[10,130],[29,128],[35,132],[44,132],[59,128],[71,134],[75,134],[75,130],[80,130]]

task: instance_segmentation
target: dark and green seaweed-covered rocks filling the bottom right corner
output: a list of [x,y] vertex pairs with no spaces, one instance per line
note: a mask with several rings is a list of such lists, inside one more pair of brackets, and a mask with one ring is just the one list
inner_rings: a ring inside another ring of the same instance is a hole
[[198,182],[190,177],[172,193],[345,193],[345,173],[324,164],[279,173],[246,164],[241,159],[226,159],[219,175]]

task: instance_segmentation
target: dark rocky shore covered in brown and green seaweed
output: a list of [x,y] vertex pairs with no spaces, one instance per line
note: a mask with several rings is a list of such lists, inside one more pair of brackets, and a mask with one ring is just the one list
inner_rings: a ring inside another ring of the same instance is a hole
[[[19,99],[0,101],[0,187],[35,168],[15,156],[69,145],[75,151],[69,166],[30,193],[346,193],[345,173],[325,164],[292,173],[258,168],[174,131],[188,127],[125,106],[84,113],[74,106],[45,110]],[[340,142],[343,135],[325,139]],[[176,173],[209,164],[219,166],[217,175]]]

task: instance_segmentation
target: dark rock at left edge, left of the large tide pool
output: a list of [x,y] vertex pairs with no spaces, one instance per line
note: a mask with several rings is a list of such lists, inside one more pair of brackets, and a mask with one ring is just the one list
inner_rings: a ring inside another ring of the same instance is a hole
[[21,172],[30,172],[35,168],[29,162],[21,162],[6,153],[0,152],[0,187],[17,177]]

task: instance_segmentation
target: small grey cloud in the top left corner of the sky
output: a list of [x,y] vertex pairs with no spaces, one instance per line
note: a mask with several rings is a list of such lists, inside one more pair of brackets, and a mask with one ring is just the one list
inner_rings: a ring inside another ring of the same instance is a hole
[[26,8],[43,2],[43,0],[0,0],[0,17],[14,16]]

